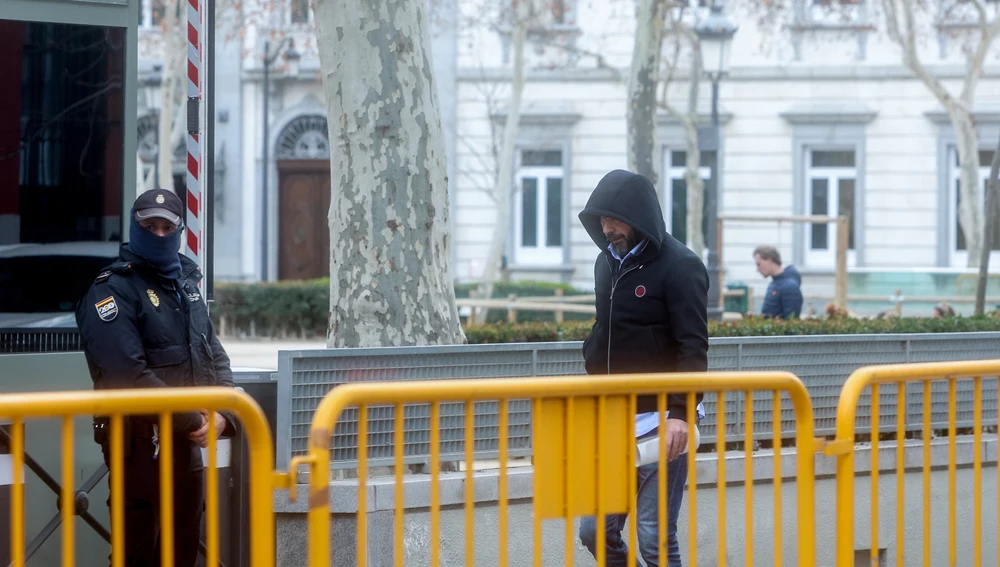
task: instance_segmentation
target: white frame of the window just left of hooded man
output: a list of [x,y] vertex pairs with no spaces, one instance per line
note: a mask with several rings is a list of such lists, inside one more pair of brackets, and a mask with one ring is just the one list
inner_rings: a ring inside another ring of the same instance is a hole
[[[534,151],[533,148],[519,148],[518,156],[522,155],[525,151]],[[548,151],[548,150],[538,150],[538,151]],[[562,155],[562,162],[565,164],[566,155],[563,150],[551,150],[559,151]],[[536,179],[537,180],[537,190],[536,190],[536,215],[535,215],[535,230],[538,245],[537,246],[524,246],[524,210],[522,209],[522,191],[524,187],[525,179]],[[565,223],[565,215],[562,211],[559,212],[560,219],[560,239],[562,244],[559,246],[549,246],[548,245],[548,227],[546,222],[548,219],[548,181],[550,179],[559,179],[562,189],[562,198],[560,202],[563,208],[566,206],[566,199],[568,198],[568,192],[566,187],[566,175],[564,165],[551,165],[551,166],[521,166],[517,170],[517,174],[514,179],[514,191],[513,191],[513,205],[514,205],[514,222],[512,226],[514,228],[514,263],[518,265],[531,265],[531,266],[554,266],[563,263],[565,258],[565,246],[566,246],[566,231],[565,227],[561,226]]]

